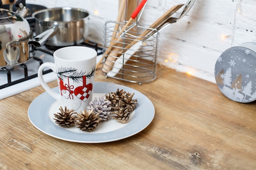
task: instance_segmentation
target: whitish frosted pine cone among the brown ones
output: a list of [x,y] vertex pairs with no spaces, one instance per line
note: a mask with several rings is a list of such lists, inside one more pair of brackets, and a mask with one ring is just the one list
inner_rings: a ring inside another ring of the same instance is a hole
[[106,100],[105,96],[100,96],[99,99],[97,97],[94,97],[94,99],[90,102],[90,105],[87,108],[90,110],[94,109],[94,113],[99,113],[99,117],[101,117],[102,120],[106,121],[111,113],[110,104],[111,102],[109,100]]

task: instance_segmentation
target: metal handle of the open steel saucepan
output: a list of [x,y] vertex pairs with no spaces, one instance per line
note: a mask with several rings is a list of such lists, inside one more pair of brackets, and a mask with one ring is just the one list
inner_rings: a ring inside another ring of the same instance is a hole
[[28,44],[32,44],[36,47],[43,46],[49,39],[51,39],[58,32],[58,26],[54,26],[40,33],[35,38],[31,39]]

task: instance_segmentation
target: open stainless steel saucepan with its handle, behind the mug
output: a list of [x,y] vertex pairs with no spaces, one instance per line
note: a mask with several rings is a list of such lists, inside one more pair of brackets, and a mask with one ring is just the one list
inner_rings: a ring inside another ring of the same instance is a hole
[[69,46],[88,38],[89,13],[70,7],[43,9],[32,14],[36,37],[28,43],[40,47]]

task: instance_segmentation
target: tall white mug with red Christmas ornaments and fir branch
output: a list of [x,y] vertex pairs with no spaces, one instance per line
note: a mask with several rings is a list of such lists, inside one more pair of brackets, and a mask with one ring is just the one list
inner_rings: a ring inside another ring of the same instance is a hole
[[[63,107],[80,112],[92,101],[97,51],[84,46],[68,46],[56,50],[53,56],[54,63],[45,62],[39,67],[39,82]],[[51,68],[56,73],[59,93],[44,81],[44,68]]]

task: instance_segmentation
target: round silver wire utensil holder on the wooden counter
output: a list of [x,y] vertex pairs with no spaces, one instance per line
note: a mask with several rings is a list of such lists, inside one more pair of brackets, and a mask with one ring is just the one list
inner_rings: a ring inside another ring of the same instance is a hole
[[[118,31],[113,37],[115,24]],[[103,73],[106,77],[121,79],[133,83],[151,82],[156,78],[157,49],[159,33],[155,29],[132,23],[124,32],[120,32],[125,22],[106,22],[103,42]],[[142,32],[150,31],[153,35],[139,37]],[[118,35],[121,33],[120,37]],[[118,40],[114,41],[115,38]],[[118,42],[117,42],[118,41]],[[110,46],[110,44],[113,44]],[[108,51],[108,49],[111,49]],[[108,53],[106,53],[108,52]],[[104,67],[108,67],[107,71]]]

